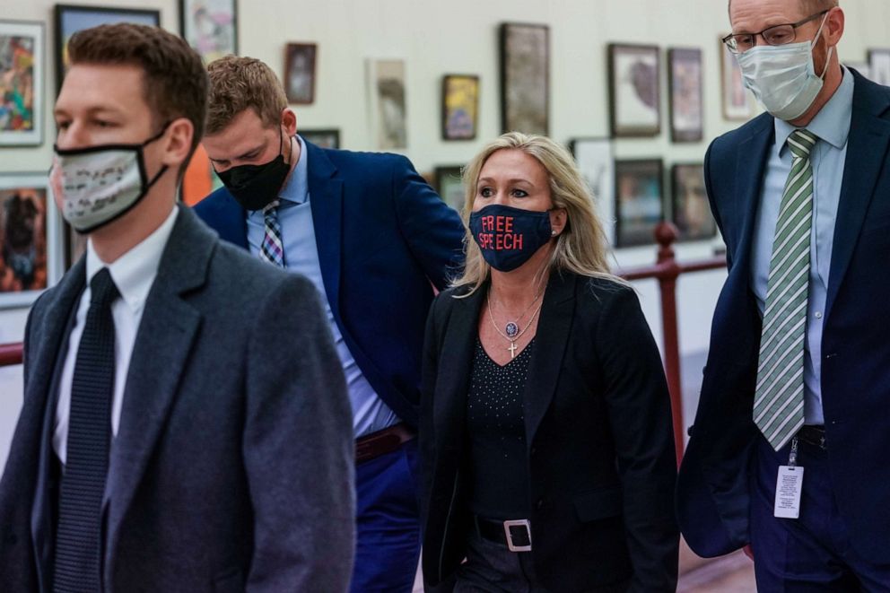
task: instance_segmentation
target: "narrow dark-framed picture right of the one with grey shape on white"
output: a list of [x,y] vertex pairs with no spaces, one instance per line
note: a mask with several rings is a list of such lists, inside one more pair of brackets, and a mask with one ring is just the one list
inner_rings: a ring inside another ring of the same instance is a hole
[[673,142],[701,142],[704,136],[702,50],[670,49],[667,64],[670,139]]

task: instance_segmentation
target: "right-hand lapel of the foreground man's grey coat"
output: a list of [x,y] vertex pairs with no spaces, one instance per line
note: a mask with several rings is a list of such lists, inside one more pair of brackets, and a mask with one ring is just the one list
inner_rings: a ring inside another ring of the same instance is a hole
[[[215,246],[212,231],[188,208],[180,207],[145,302],[127,373],[118,436],[111,448],[105,494],[110,554],[115,553],[121,519],[161,435],[200,326],[200,314],[180,295],[205,283]],[[113,558],[109,559],[107,566],[113,565]]]

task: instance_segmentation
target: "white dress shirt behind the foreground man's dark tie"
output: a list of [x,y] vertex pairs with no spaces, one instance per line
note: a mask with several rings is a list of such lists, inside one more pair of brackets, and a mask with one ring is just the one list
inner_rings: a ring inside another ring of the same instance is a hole
[[161,255],[179,208],[174,207],[167,220],[161,223],[151,235],[118,257],[114,262],[106,264],[96,254],[92,240],[86,246],[86,289],[77,305],[77,317],[68,338],[68,352],[65,354],[65,366],[59,381],[58,404],[56,406],[56,423],[53,431],[53,449],[59,460],[65,463],[65,452],[68,446],[68,413],[71,410],[71,382],[74,379],[74,362],[77,359],[77,347],[81,343],[83,325],[90,309],[90,281],[103,267],[109,268],[111,279],[120,292],[120,298],[111,303],[111,317],[114,318],[114,396],[111,404],[111,434],[118,435],[120,410],[124,400],[124,385],[127,382],[127,370],[130,368],[130,355],[133,353],[136,331],[142,320],[145,299],[152,289]]

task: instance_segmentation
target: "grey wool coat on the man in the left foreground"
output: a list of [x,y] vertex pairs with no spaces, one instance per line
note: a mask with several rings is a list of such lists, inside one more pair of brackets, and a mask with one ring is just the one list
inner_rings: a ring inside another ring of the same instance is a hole
[[[352,414],[312,284],[179,215],[145,303],[111,446],[104,589],[345,591]],[[48,591],[51,436],[83,258],[34,304],[0,480],[0,591]]]

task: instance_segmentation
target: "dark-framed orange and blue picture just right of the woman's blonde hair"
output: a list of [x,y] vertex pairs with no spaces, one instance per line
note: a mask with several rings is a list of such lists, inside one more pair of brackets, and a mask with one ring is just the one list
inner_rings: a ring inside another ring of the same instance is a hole
[[664,220],[660,159],[615,161],[615,247],[650,245]]

